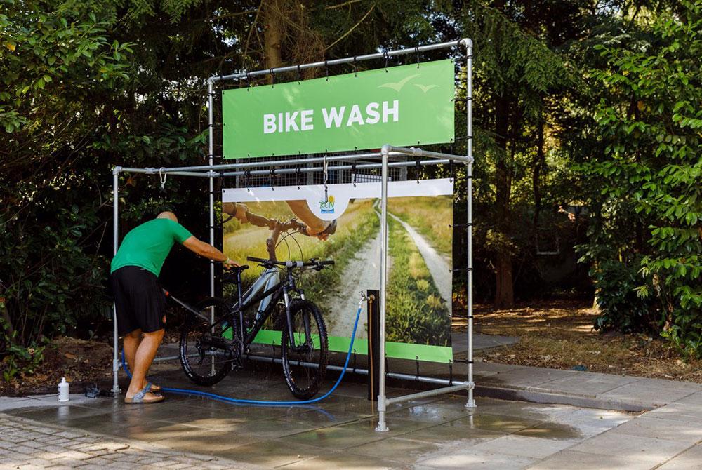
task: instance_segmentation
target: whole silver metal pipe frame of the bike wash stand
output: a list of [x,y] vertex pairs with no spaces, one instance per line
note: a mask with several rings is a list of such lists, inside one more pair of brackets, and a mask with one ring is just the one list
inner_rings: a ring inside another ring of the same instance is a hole
[[[227,80],[240,80],[249,79],[251,76],[260,76],[265,74],[276,74],[281,72],[298,72],[300,69],[310,69],[313,67],[327,67],[329,65],[338,65],[351,62],[357,62],[361,60],[372,60],[378,58],[390,58],[396,55],[404,55],[409,53],[420,53],[423,51],[434,51],[442,48],[451,48],[454,46],[463,46],[466,48],[466,118],[467,118],[467,135],[466,135],[466,155],[453,155],[445,154],[442,152],[430,152],[425,149],[420,148],[406,148],[406,147],[393,147],[392,145],[384,145],[380,152],[368,152],[359,153],[351,155],[336,155],[336,156],[325,156],[314,157],[307,159],[287,159],[279,161],[255,161],[246,163],[228,163],[228,164],[214,164],[214,121],[213,121],[213,88],[214,84],[218,81]],[[394,398],[387,398],[385,396],[385,377],[390,375],[390,377],[397,375],[402,376],[402,374],[388,374],[385,370],[385,361],[381,360],[379,363],[380,372],[380,383],[379,389],[380,394],[378,395],[378,426],[376,431],[388,431],[388,427],[385,423],[385,410],[387,406],[392,403],[400,403],[402,401],[409,401],[416,398],[425,398],[428,396],[437,396],[440,394],[447,394],[453,391],[468,390],[468,401],[466,402],[466,408],[475,408],[475,399],[473,398],[473,390],[475,389],[475,383],[473,382],[473,305],[472,305],[472,41],[470,39],[461,39],[458,42],[448,42],[448,43],[437,43],[430,44],[427,46],[418,46],[416,48],[410,49],[399,49],[397,51],[385,51],[383,53],[373,53],[368,55],[359,55],[353,58],[343,58],[336,60],[329,60],[324,62],[312,62],[309,64],[301,64],[291,67],[279,67],[277,69],[265,69],[258,70],[256,72],[245,72],[239,74],[223,75],[223,76],[212,76],[207,81],[208,84],[208,132],[209,132],[209,142],[208,142],[208,165],[199,166],[185,166],[177,168],[123,168],[121,166],[114,167],[112,170],[112,184],[113,184],[113,243],[114,243],[114,254],[117,254],[117,248],[119,246],[119,175],[120,173],[142,173],[146,175],[159,175],[165,177],[165,175],[174,176],[187,176],[187,177],[204,177],[208,178],[209,183],[209,233],[210,233],[210,243],[214,245],[215,243],[215,201],[214,201],[214,181],[218,177],[230,177],[230,176],[241,176],[241,175],[268,175],[271,174],[271,169],[274,169],[276,174],[289,174],[289,173],[314,173],[317,171],[322,171],[322,167],[305,167],[305,168],[284,168],[285,166],[309,164],[309,163],[322,163],[326,162],[345,162],[354,161],[358,159],[380,159],[379,163],[361,163],[353,165],[340,165],[333,166],[333,170],[346,170],[346,169],[368,169],[368,168],[380,168],[381,169],[381,214],[380,214],[380,256],[381,256],[381,269],[380,269],[380,358],[385,357],[385,288],[388,282],[388,168],[394,167],[409,167],[409,166],[429,166],[436,165],[439,163],[449,163],[451,161],[457,161],[464,163],[466,166],[466,233],[467,233],[467,243],[468,243],[468,258],[467,258],[467,293],[468,293],[468,377],[466,382],[453,382],[454,385],[449,384],[449,387],[442,387],[439,389],[422,391],[416,394],[409,394],[405,396],[398,396]],[[416,161],[392,161],[390,158],[396,156],[411,156],[416,159]],[[428,158],[428,160],[422,160],[423,157]],[[258,169],[253,168],[267,168]],[[215,294],[215,269],[214,262],[210,263],[210,295]],[[117,382],[117,376],[119,372],[119,355],[118,355],[118,333],[117,333],[117,313],[114,311],[113,304],[113,332],[114,332],[114,356],[113,356],[113,384],[112,391],[115,395],[119,394],[119,384]],[[445,380],[439,380],[432,377],[413,377],[417,378],[422,382],[428,382],[433,384],[446,384]]]

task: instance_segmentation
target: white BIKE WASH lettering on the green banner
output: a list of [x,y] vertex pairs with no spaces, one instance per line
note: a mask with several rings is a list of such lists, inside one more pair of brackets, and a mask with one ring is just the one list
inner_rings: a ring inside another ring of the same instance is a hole
[[[399,120],[399,101],[370,102],[362,111],[359,105],[322,108],[322,120],[327,129],[387,123]],[[263,133],[287,133],[314,130],[314,109],[295,112],[263,114]]]

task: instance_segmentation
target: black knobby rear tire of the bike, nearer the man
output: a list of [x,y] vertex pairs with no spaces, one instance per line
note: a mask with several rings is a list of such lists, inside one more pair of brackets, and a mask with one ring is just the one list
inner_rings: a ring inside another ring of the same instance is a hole
[[[223,315],[229,313],[229,307],[223,299],[218,297],[209,297],[197,304],[196,308],[203,311],[207,315],[210,314],[210,307],[215,307],[215,321],[218,321]],[[227,325],[232,337],[239,337],[239,324],[233,321]],[[198,385],[210,386],[220,382],[232,370],[235,358],[232,351],[225,349],[209,348],[210,356],[209,364],[203,364],[208,354],[204,354],[204,348],[197,347],[197,340],[206,333],[210,333],[213,337],[223,337],[223,332],[226,328],[218,326],[218,330],[214,333],[210,332],[211,323],[203,319],[191,315],[185,322],[183,330],[180,333],[180,344],[178,352],[180,356],[180,365],[183,372],[191,382]]]

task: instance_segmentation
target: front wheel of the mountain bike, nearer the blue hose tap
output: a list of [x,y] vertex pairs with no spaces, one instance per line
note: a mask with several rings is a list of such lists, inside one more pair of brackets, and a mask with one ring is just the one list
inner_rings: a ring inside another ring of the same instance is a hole
[[287,321],[281,340],[283,374],[292,394],[300,400],[312,398],[326,375],[329,342],[322,312],[308,300],[293,300],[290,306],[293,342]]

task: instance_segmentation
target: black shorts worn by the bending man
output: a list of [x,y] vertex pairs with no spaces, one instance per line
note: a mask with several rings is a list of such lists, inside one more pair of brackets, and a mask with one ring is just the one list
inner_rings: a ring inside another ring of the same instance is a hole
[[153,333],[164,328],[166,296],[159,278],[138,266],[125,266],[110,274],[120,336],[134,330]]

